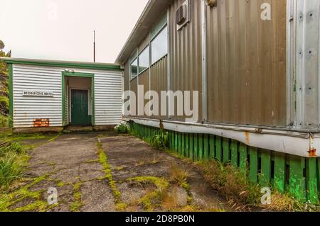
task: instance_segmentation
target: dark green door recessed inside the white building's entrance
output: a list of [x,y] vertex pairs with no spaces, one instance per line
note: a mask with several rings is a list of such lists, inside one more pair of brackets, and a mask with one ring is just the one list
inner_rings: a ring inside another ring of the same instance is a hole
[[91,125],[87,90],[71,91],[71,125]]

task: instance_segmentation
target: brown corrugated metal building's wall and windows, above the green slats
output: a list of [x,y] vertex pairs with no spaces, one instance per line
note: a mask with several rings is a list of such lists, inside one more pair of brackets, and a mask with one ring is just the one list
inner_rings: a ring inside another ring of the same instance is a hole
[[[319,37],[319,4],[314,0],[149,1],[116,61],[125,65],[124,88],[136,93],[139,85],[144,85],[144,93],[199,91],[199,126],[263,130],[279,137],[316,134],[319,38],[310,37]],[[186,18],[179,26],[177,10],[184,5]],[[314,35],[306,35],[306,29]],[[176,113],[176,105],[177,101],[170,109],[167,103],[168,111]],[[186,115],[167,112],[134,118],[183,123]],[[309,156],[310,148],[320,148],[317,142],[310,147],[309,139],[304,139],[304,145],[294,150],[280,140],[278,145],[258,147],[302,156]],[[246,142],[245,135],[241,141]]]

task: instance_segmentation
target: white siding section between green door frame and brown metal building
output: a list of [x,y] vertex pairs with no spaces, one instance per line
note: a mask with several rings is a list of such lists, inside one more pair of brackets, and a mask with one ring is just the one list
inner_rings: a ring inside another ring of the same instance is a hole
[[95,74],[95,125],[117,125],[122,120],[122,72]]

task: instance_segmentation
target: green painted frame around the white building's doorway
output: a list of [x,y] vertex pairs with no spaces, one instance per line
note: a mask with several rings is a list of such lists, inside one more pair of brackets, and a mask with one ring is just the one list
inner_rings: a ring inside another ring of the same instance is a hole
[[95,125],[95,74],[80,72],[62,72],[62,103],[63,103],[63,126],[67,125],[68,120],[65,118],[65,77],[82,77],[91,78],[91,108],[92,108],[92,125]]

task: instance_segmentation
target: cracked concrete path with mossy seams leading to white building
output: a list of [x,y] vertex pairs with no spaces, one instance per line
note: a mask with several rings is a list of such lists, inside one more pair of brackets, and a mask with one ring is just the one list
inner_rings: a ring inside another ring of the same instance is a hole
[[[12,210],[220,211],[201,172],[136,137],[88,132],[60,135],[31,152],[28,195]],[[48,188],[58,204],[46,205]],[[23,207],[28,207],[24,208]]]

